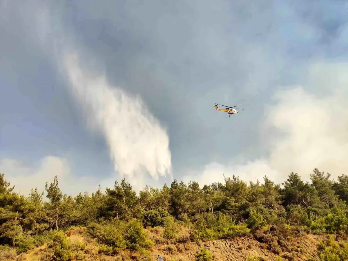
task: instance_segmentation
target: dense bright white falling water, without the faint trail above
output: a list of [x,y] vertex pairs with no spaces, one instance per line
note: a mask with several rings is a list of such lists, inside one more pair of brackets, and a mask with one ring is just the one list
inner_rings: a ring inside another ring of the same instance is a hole
[[90,127],[100,130],[109,145],[115,171],[137,181],[146,172],[155,180],[171,173],[168,134],[141,98],[82,70],[76,54],[66,54],[63,62]]

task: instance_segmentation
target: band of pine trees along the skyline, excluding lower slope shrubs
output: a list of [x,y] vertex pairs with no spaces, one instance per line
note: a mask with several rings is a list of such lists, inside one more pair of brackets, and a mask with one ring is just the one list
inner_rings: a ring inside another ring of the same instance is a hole
[[[68,226],[85,226],[98,235],[97,231],[105,236],[111,233],[118,240],[111,244],[112,251],[149,245],[139,226],[162,226],[168,238],[178,226],[186,226],[190,240],[243,236],[282,224],[313,234],[347,233],[348,176],[333,181],[329,173],[315,168],[310,177],[311,182],[304,182],[291,172],[283,186],[267,176],[262,183],[250,184],[236,176],[203,186],[174,180],[170,187],[146,186],[139,195],[122,179],[104,192],[99,187],[91,195],[72,197],[60,189],[57,177],[46,182],[45,191],[33,188],[24,196],[0,174],[0,245],[25,251],[37,244],[38,235]],[[119,222],[125,222],[124,226]],[[112,231],[118,231],[118,238]]]

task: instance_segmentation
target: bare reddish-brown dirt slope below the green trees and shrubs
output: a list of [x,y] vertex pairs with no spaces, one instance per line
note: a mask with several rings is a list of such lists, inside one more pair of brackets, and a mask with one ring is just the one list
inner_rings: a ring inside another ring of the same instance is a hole
[[[84,233],[69,235],[72,242],[83,242],[86,244],[86,251],[80,255],[79,260],[100,260],[100,261],[122,261],[122,260],[158,260],[160,254],[165,261],[195,261],[196,252],[201,248],[206,248],[213,254],[214,260],[226,261],[243,261],[247,260],[248,256],[259,257],[260,260],[276,260],[276,254],[267,248],[266,244],[259,243],[252,238],[236,238],[231,240],[214,240],[211,242],[183,243],[183,244],[156,244],[147,251],[147,255],[151,257],[145,258],[144,254],[130,253],[125,251],[120,256],[100,256],[98,255],[98,247],[95,240],[86,236]],[[299,238],[294,238],[290,243],[290,251],[281,252],[279,256],[283,260],[303,260],[307,261],[309,257],[318,260],[316,254],[316,246],[319,239],[325,239],[325,236],[305,235]],[[163,242],[164,243],[164,242]],[[2,260],[48,260],[52,258],[52,250],[46,247],[46,244],[35,248],[34,250],[23,253],[19,256],[8,257]]]

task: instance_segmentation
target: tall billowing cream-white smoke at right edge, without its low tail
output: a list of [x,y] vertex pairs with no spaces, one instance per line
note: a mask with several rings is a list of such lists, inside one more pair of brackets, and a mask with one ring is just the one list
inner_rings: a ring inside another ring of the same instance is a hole
[[[315,167],[334,177],[348,170],[348,105],[345,94],[347,64],[315,64],[309,79],[317,97],[302,87],[279,91],[277,102],[267,115],[268,124],[282,132],[282,137],[270,141],[270,166],[283,175],[296,171],[308,178]],[[340,71],[340,74],[337,74]],[[331,93],[326,93],[326,90]],[[319,91],[319,92],[318,92]]]

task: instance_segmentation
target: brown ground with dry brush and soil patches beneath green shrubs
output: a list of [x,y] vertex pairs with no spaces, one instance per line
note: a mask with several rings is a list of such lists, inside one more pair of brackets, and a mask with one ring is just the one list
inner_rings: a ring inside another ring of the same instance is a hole
[[[98,246],[95,239],[88,237],[84,228],[71,228],[68,231],[71,244],[76,249],[81,249],[80,255],[76,260],[84,261],[131,261],[157,260],[158,254],[167,261],[195,261],[196,251],[204,247],[214,256],[214,260],[246,260],[247,256],[258,256],[260,260],[276,260],[276,256],[282,256],[284,261],[289,260],[308,260],[308,256],[316,259],[316,244],[321,236],[294,237],[287,242],[287,249],[280,250],[276,254],[269,249],[268,243],[261,243],[251,238],[235,238],[232,240],[214,240],[201,243],[200,246],[188,240],[171,240],[167,242],[163,238],[163,228],[149,228],[150,237],[156,245],[149,250],[142,250],[137,253],[122,251],[117,256],[105,256],[98,254]],[[186,238],[188,230],[180,230],[176,239]],[[273,238],[271,238],[273,239]],[[279,238],[278,238],[279,239]],[[179,243],[179,242],[185,243]],[[273,240],[271,240],[273,242]],[[0,250],[0,261],[49,261],[52,260],[53,251],[45,245],[35,248],[27,253],[16,256],[16,252],[11,249]]]

